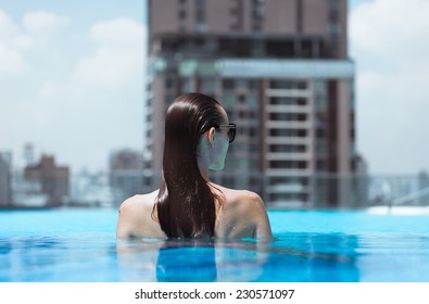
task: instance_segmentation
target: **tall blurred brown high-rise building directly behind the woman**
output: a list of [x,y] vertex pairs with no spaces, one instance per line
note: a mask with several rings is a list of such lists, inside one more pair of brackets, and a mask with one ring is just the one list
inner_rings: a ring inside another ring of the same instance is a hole
[[157,187],[164,118],[180,93],[214,97],[238,126],[226,187],[270,206],[340,206],[354,172],[346,0],[148,0],[146,154]]

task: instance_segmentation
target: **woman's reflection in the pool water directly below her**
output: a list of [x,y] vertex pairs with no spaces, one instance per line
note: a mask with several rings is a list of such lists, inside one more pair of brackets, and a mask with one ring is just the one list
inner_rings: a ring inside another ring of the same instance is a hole
[[[266,261],[257,246],[245,241],[143,239],[118,241],[117,251],[124,280],[204,282],[257,280]],[[231,271],[237,261],[240,268]]]

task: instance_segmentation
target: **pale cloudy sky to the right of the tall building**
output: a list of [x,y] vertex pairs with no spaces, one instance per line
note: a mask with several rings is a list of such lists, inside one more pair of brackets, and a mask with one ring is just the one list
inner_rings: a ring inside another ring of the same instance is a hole
[[429,1],[376,0],[350,18],[358,145],[373,173],[429,169]]

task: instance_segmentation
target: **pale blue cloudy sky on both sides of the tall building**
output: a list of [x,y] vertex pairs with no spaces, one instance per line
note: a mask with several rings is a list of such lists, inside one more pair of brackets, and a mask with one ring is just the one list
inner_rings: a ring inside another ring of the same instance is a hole
[[[143,0],[0,0],[0,151],[105,170],[143,147]],[[429,170],[427,0],[350,0],[356,145],[374,175]]]

